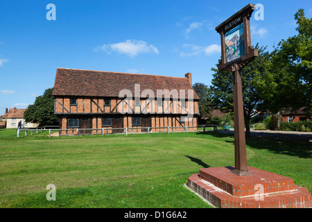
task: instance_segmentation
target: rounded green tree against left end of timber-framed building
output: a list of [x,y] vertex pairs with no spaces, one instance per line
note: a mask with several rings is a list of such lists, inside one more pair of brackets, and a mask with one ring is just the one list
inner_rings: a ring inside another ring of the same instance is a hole
[[37,96],[33,105],[28,105],[24,112],[26,122],[39,123],[40,126],[58,125],[58,117],[54,114],[53,88],[46,89],[42,96]]

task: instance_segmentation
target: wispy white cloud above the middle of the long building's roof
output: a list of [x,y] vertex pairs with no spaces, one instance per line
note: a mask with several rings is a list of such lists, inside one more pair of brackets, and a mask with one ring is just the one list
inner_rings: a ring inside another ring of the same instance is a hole
[[148,45],[147,42],[141,40],[125,40],[125,42],[103,44],[103,46],[97,46],[94,49],[94,51],[98,50],[106,51],[107,53],[115,51],[130,57],[135,57],[141,53],[159,53],[155,46],[152,44]]

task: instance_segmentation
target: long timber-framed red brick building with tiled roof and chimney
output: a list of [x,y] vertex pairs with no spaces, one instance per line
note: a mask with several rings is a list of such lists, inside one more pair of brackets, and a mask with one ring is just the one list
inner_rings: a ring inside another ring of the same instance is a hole
[[[58,68],[53,96],[60,128],[73,129],[62,130],[62,135],[76,134],[77,128],[104,128],[105,133],[123,133],[125,129],[114,132],[109,129],[198,125],[199,97],[193,91],[190,73],[178,78]],[[193,130],[197,128],[189,128]],[[79,130],[79,133],[101,133],[90,131]]]

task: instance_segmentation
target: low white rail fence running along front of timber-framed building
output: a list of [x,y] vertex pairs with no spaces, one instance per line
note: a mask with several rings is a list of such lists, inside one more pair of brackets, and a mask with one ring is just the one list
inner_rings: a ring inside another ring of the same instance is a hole
[[[198,130],[202,128],[202,130]],[[181,126],[181,127],[140,127],[140,128],[76,128],[76,129],[17,129],[17,138],[20,137],[21,133],[24,132],[27,137],[30,133],[42,133],[44,131],[49,131],[49,137],[51,137],[52,131],[58,131],[58,135],[62,135],[62,131],[66,131],[66,135],[105,135],[105,134],[137,134],[137,133],[189,133],[206,131],[207,128],[213,128],[214,132],[217,131],[217,126]],[[116,132],[118,130],[118,132]],[[81,133],[83,131],[83,133]],[[86,133],[85,131],[88,131]],[[121,132],[120,132],[121,131]],[[134,132],[137,131],[137,132]],[[139,131],[139,132],[138,132]],[[69,133],[70,132],[70,133]]]

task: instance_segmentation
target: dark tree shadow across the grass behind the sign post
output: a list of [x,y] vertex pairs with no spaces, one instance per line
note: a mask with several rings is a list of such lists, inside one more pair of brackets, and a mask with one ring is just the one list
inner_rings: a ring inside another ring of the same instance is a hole
[[[218,138],[234,138],[233,134],[199,132],[199,135],[211,135]],[[234,145],[234,141],[225,139],[225,142]],[[252,135],[246,138],[246,145],[254,149],[267,149],[272,153],[291,155],[300,158],[311,158],[311,145],[307,138],[266,137]]]

